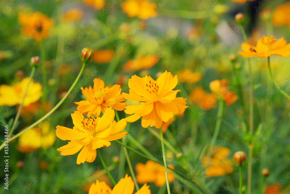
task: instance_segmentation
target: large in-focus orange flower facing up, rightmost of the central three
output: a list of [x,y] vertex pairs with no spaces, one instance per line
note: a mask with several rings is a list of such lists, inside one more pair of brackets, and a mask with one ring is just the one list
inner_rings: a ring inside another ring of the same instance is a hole
[[150,125],[150,127],[160,128],[162,121],[167,122],[174,114],[182,114],[188,106],[186,106],[186,99],[176,97],[180,90],[172,90],[177,82],[177,76],[173,78],[167,71],[156,81],[150,76],[143,78],[132,76],[128,82],[129,94],[122,94],[125,99],[141,103],[125,107],[125,113],[131,114],[126,120],[134,122],[142,117],[142,127],[146,128]]

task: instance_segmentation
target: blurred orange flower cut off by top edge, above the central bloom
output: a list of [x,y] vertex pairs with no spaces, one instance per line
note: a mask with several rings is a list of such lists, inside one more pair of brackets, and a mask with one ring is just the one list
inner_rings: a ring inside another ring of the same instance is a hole
[[127,0],[121,3],[121,7],[128,17],[148,19],[157,16],[156,4],[147,0]]

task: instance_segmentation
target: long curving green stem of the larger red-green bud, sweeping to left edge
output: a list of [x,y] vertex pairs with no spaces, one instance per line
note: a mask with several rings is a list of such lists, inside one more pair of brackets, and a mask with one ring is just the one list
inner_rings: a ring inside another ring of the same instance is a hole
[[[51,115],[66,99],[66,97],[68,97],[68,95],[70,94],[71,90],[73,90],[73,88],[75,87],[77,81],[79,81],[79,77],[81,76],[81,74],[84,71],[84,68],[86,66],[86,63],[83,63],[83,66],[81,67],[81,71],[79,72],[79,74],[77,75],[77,78],[75,79],[73,85],[70,87],[70,89],[68,90],[68,92],[66,92],[66,95],[64,95],[64,97],[59,101],[59,103],[57,103],[57,105],[55,105],[55,107],[53,107],[48,113],[46,113],[46,115],[44,115],[41,119],[39,119],[38,121],[36,121],[35,123],[31,124],[30,126],[28,126],[26,129],[23,129],[22,131],[20,131],[18,134],[16,134],[15,136],[10,138],[10,141],[16,139],[17,137],[19,137],[21,134],[25,133],[27,130],[31,129],[32,127],[34,127],[35,125],[37,125],[38,123],[40,123],[41,121],[43,121],[44,119],[46,119],[49,115]],[[1,144],[0,146],[0,150],[3,149],[4,147],[4,143]]]

